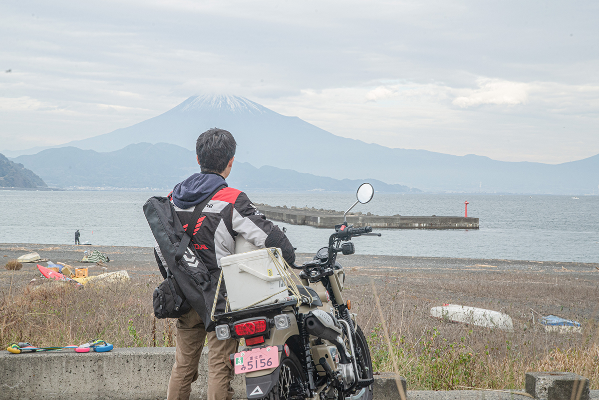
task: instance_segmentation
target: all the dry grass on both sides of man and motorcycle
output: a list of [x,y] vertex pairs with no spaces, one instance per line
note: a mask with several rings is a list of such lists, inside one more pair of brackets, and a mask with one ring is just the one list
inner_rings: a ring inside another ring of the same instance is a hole
[[[16,275],[23,271],[16,272]],[[5,272],[5,274],[14,272]],[[375,371],[391,371],[392,355],[370,285],[348,281],[344,296],[370,344]],[[367,276],[370,282],[370,275]],[[80,344],[101,337],[117,347],[174,346],[174,320],[156,320],[152,292],[158,275],[138,275],[123,288],[56,284],[12,286],[0,293],[0,345]],[[593,281],[518,274],[406,275],[377,285],[398,370],[410,389],[522,389],[525,372],[569,371],[599,389],[599,287]],[[8,294],[7,294],[8,293]],[[452,302],[509,314],[514,332],[431,319],[431,307]],[[576,319],[583,334],[544,332],[541,314]]]

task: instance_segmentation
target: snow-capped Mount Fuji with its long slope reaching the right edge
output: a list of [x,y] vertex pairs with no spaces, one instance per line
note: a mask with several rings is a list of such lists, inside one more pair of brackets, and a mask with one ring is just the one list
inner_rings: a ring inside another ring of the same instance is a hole
[[192,149],[198,135],[215,126],[235,136],[237,161],[258,168],[270,165],[340,180],[373,177],[429,192],[599,193],[599,154],[549,165],[390,149],[335,136],[239,96],[192,96],[159,116],[66,145],[115,151],[129,144],[167,142]]

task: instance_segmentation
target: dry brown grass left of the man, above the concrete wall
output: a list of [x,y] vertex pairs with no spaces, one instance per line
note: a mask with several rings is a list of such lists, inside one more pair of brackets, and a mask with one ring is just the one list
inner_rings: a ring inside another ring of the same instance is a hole
[[78,287],[44,281],[0,298],[0,344],[81,344],[102,338],[115,347],[175,346],[174,320],[156,320],[155,285]]

